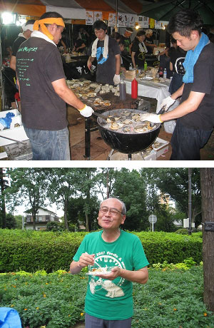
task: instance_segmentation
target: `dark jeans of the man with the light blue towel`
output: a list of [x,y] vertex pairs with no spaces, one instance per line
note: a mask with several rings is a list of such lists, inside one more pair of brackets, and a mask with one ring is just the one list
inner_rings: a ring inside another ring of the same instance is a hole
[[200,148],[208,142],[212,131],[187,128],[178,119],[171,138],[170,160],[200,160]]

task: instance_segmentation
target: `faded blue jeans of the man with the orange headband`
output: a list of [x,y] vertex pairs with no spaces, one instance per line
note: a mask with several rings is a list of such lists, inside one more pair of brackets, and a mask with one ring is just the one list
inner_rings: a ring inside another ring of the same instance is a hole
[[63,130],[36,130],[26,128],[31,141],[33,160],[71,160],[68,128]]

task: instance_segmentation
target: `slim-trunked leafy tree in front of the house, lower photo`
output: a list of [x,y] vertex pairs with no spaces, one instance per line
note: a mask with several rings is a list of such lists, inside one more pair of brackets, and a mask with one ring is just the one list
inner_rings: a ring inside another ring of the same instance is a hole
[[15,168],[8,171],[10,187],[5,195],[8,201],[12,200],[11,208],[18,205],[30,205],[33,217],[34,230],[36,230],[36,213],[39,207],[45,205],[46,188],[48,185],[46,170],[44,168]]

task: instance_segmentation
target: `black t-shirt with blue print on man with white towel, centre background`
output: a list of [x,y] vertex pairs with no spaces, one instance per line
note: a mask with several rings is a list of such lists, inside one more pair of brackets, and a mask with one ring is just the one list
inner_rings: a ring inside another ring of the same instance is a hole
[[[89,48],[88,54],[91,56],[91,48]],[[116,55],[121,53],[118,43],[115,39],[108,39],[108,58],[103,57],[104,41],[98,41],[96,60],[97,60],[97,71],[96,81],[99,83],[113,84],[113,76],[116,73]]]

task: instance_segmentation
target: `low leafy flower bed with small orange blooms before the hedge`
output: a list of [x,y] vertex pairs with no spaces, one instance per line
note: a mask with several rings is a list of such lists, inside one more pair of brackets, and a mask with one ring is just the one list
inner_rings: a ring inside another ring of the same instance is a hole
[[[149,270],[146,285],[133,284],[138,328],[214,328],[214,314],[203,304],[203,268]],[[19,312],[23,327],[71,328],[84,320],[87,277],[54,272],[47,275],[0,274],[0,307]]]

